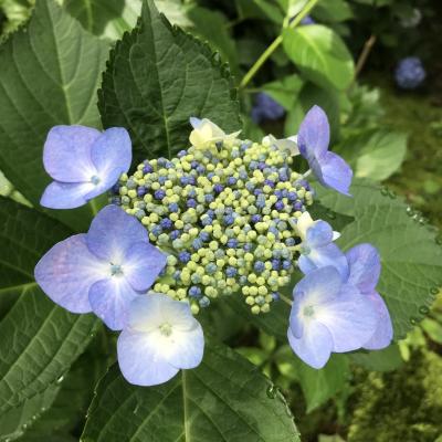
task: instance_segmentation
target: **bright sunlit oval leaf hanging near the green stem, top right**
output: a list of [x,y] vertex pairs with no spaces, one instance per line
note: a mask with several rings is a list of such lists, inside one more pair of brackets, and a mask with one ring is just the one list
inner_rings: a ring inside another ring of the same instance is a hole
[[346,90],[354,78],[354,62],[344,41],[332,29],[311,24],[286,28],[283,45],[288,57],[312,82],[325,88]]

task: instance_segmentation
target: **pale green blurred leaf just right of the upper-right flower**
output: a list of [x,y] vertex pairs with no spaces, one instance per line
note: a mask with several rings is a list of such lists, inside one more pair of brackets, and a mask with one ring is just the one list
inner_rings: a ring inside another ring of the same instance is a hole
[[356,177],[382,181],[400,168],[407,152],[407,135],[368,130],[347,138],[338,151],[354,167]]

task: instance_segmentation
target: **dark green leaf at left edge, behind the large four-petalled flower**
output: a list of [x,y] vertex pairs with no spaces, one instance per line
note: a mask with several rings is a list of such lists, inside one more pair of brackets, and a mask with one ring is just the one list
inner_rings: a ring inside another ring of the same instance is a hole
[[0,199],[0,298],[13,297],[0,323],[0,414],[56,382],[97,325],[93,315],[56,306],[33,281],[40,256],[69,233],[53,219]]

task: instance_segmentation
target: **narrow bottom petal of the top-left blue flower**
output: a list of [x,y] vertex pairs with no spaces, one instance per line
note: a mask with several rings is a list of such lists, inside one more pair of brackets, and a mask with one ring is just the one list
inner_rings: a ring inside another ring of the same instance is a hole
[[92,182],[51,182],[44,190],[40,204],[50,209],[74,209],[88,201],[94,189]]

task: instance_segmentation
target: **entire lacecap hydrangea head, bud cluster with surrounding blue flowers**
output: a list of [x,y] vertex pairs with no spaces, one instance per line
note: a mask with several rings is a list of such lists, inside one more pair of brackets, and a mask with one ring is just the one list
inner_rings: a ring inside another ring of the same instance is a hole
[[[141,386],[200,364],[198,313],[230,296],[242,297],[253,314],[287,302],[288,341],[315,368],[334,351],[389,345],[376,249],[360,244],[344,254],[334,242],[339,234],[308,211],[315,194],[307,178],[349,196],[352,176],[328,150],[324,110],[314,106],[296,136],[261,143],[225,134],[208,119],[190,123],[189,146],[176,158],[145,160],[131,175],[124,128],[51,129],[44,166],[54,182],[42,204],[73,208],[103,191],[112,196],[87,233],[40,260],[35,280],[48,296],[122,330],[122,372]],[[297,155],[307,172],[294,170]],[[291,301],[281,290],[296,267],[305,276]]]

